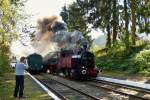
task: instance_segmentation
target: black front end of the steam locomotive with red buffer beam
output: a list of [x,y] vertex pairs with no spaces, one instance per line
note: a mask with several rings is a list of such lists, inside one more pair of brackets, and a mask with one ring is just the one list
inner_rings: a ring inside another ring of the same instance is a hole
[[98,70],[95,69],[95,56],[91,52],[83,52],[79,55],[72,56],[71,75],[75,79],[95,78]]

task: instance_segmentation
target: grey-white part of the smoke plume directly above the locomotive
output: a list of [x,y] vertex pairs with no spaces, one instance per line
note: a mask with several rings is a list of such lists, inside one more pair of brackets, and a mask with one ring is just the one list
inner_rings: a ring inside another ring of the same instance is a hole
[[55,33],[53,41],[57,42],[61,49],[82,48],[87,45],[87,40],[80,31],[67,32],[61,30]]

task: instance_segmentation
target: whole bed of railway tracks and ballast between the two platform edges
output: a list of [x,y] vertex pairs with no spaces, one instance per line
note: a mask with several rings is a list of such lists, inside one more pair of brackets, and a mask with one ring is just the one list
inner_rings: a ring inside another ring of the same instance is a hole
[[150,100],[149,91],[106,81],[77,82],[45,74],[42,77],[38,79],[62,100]]

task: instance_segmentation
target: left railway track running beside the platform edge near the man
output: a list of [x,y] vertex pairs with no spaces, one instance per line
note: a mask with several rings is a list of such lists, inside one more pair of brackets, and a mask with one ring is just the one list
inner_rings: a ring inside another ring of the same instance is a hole
[[99,100],[99,98],[68,86],[63,82],[45,76],[35,77],[62,100]]

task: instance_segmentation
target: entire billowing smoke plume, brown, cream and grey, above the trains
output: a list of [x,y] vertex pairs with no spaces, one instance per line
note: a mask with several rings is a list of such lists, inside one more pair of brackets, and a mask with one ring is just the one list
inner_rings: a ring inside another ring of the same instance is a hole
[[68,32],[66,24],[58,21],[56,16],[52,16],[38,21],[36,37],[24,50],[29,49],[28,51],[30,51],[32,48],[32,52],[24,55],[28,56],[34,52],[44,57],[50,52],[61,49],[74,50],[82,48],[83,45],[87,45],[87,40],[80,31]]

